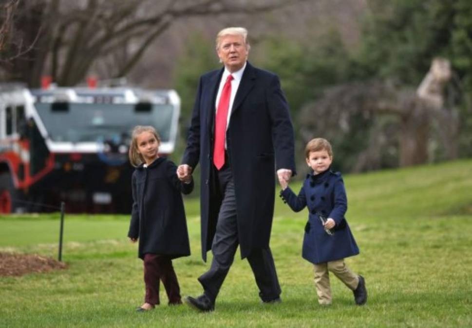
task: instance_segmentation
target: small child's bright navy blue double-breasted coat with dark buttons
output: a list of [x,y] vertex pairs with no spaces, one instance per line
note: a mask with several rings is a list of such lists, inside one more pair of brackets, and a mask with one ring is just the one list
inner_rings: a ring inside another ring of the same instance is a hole
[[[296,212],[308,207],[303,259],[318,264],[359,254],[359,248],[344,218],[347,197],[340,173],[327,170],[317,175],[307,174],[298,196],[290,188],[286,188],[281,191],[281,197]],[[332,229],[333,236],[324,231],[318,213],[325,219],[332,218],[336,222]]]

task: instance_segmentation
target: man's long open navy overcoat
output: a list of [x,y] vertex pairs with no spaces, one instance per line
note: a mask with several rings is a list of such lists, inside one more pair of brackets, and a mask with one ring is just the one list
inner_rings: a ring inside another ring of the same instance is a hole
[[[224,68],[200,78],[182,164],[201,166],[202,257],[216,229],[221,200],[212,164],[215,98]],[[294,133],[277,75],[246,63],[226,133],[233,174],[241,257],[269,246],[274,212],[275,171],[295,174]]]

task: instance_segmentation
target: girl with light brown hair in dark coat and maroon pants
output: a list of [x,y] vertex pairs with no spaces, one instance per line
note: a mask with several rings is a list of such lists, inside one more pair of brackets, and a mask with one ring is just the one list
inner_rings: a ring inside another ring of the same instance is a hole
[[138,256],[144,261],[144,304],[148,311],[159,304],[162,281],[169,304],[182,304],[180,287],[172,259],[189,256],[189,234],[182,193],[193,190],[191,177],[180,181],[177,167],[158,156],[160,139],[152,126],[136,126],[132,132],[130,162],[132,174],[132,214],[128,237],[139,239]]

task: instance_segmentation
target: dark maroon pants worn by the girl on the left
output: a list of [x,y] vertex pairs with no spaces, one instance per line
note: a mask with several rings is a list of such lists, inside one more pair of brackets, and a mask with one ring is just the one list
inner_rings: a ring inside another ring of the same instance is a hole
[[144,284],[146,287],[144,301],[146,303],[160,304],[160,280],[162,280],[166,289],[169,304],[181,304],[179,282],[170,257],[151,253],[144,254]]

